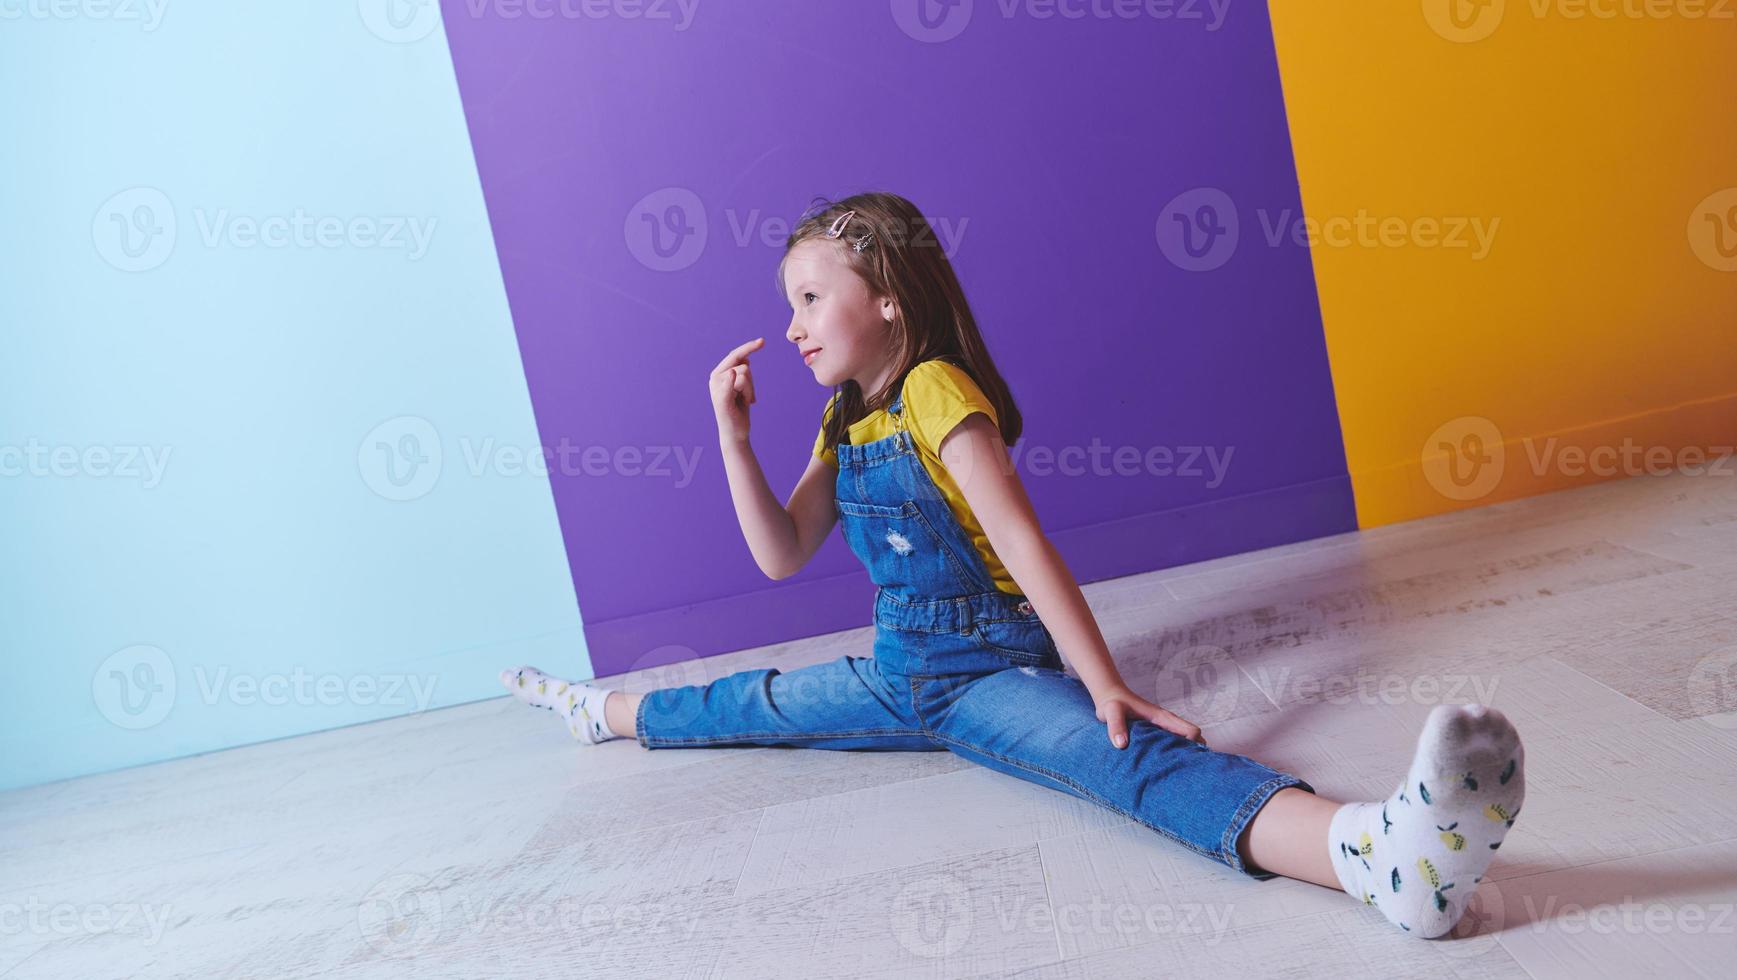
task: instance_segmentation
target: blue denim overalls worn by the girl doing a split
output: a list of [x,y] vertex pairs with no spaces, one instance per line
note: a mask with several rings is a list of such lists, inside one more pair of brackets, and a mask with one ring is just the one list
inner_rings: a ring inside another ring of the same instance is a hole
[[796,671],[740,671],[644,695],[648,749],[802,745],[948,749],[974,763],[1106,806],[1251,877],[1237,838],[1294,775],[1133,721],[1110,744],[1086,685],[1063,672],[1049,629],[995,587],[905,427],[839,443],[837,511],[874,579],[874,657]]

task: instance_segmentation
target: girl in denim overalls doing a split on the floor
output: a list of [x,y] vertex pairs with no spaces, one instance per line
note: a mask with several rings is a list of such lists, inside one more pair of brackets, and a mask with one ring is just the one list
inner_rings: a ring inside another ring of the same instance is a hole
[[[834,387],[787,506],[749,445],[757,337],[710,375],[736,518],[771,579],[842,523],[874,579],[874,657],[709,685],[606,692],[502,671],[582,742],[952,751],[1080,796],[1254,879],[1343,888],[1417,937],[1447,933],[1520,813],[1525,752],[1483,705],[1438,705],[1388,799],[1337,803],[1207,747],[1124,683],[1044,537],[1007,445],[1021,420],[929,222],[908,200],[823,202],[790,233],[785,339]],[[1063,659],[1075,674],[1063,671]]]

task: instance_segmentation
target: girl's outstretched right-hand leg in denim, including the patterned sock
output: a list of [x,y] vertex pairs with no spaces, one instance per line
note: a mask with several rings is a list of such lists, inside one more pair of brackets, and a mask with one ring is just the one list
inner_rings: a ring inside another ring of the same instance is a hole
[[1341,888],[1419,937],[1459,919],[1525,792],[1518,735],[1483,705],[1436,707],[1393,796],[1350,805],[1145,721],[1117,749],[1086,686],[1061,671],[929,678],[917,711],[961,756],[1108,806],[1252,877]]

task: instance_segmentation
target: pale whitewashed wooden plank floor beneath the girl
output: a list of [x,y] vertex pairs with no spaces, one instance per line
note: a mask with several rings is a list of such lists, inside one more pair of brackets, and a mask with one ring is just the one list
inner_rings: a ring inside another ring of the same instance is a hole
[[[1464,935],[948,752],[577,745],[511,699],[0,796],[0,977],[1732,977],[1737,478],[1641,476],[1086,587],[1212,745],[1379,798],[1501,707]],[[867,655],[870,631],[637,688]],[[554,667],[554,664],[549,664]]]

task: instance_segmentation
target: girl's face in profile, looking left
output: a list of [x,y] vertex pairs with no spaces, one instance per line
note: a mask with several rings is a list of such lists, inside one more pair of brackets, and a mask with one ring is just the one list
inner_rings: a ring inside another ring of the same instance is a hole
[[783,292],[794,316],[785,339],[832,387],[856,381],[865,393],[881,389],[893,372],[891,297],[875,297],[837,252],[837,243],[808,240],[783,261]]

